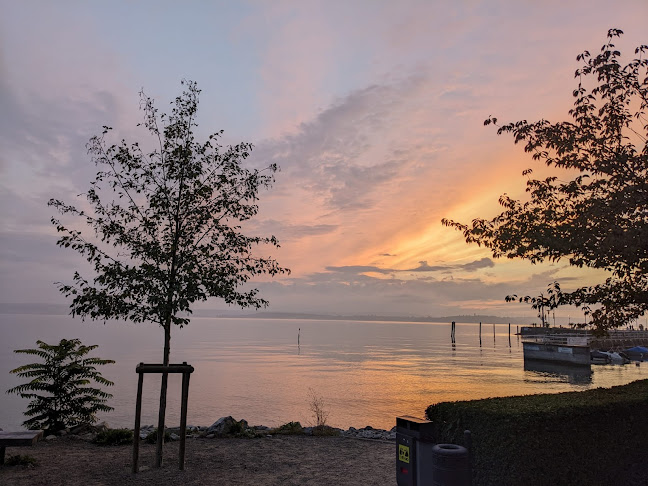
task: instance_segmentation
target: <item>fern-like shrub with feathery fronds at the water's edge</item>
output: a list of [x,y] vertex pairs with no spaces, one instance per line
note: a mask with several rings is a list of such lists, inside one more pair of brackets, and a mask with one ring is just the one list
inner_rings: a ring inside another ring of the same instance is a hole
[[[109,412],[106,405],[112,395],[96,385],[112,386],[101,376],[97,366],[114,363],[109,359],[85,358],[97,346],[85,346],[78,339],[61,339],[50,345],[36,341],[36,349],[16,349],[15,353],[37,356],[42,361],[11,370],[30,381],[7,390],[31,401],[23,422],[28,429],[56,432],[66,427],[93,424],[97,412]],[[94,383],[93,383],[94,382]]]

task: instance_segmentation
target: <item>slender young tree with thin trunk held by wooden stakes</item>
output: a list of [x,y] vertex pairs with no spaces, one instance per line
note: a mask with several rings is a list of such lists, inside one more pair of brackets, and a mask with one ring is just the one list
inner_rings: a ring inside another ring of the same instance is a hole
[[[168,115],[159,114],[153,100],[140,93],[155,149],[147,152],[124,140],[108,146],[109,127],[90,140],[88,151],[100,168],[85,194],[90,210],[49,202],[92,228],[88,236],[52,218],[63,233],[58,245],[78,251],[94,267],[92,280],[76,272],[72,284],[59,283],[73,298],[72,315],[157,322],[164,330],[165,366],[171,327],[189,323],[184,316],[194,302],[220,297],[241,307],[266,306],[256,289],[241,285],[256,275],[288,271],[253,251],[260,244],[278,247],[274,236],[246,236],[240,226],[257,213],[259,189],[272,184],[276,165],[244,168],[252,145],[223,147],[222,131],[198,143],[200,90],[192,81],[183,85]],[[162,375],[158,430],[164,430],[167,378]],[[159,437],[158,466],[163,434]]]

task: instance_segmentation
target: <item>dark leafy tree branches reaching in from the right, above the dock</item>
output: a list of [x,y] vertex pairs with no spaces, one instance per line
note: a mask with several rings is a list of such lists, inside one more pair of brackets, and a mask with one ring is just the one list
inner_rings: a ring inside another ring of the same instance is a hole
[[504,211],[493,219],[442,221],[495,257],[567,260],[608,271],[604,281],[571,292],[550,285],[551,305],[583,306],[601,332],[648,310],[648,46],[622,65],[612,43],[622,33],[611,29],[598,55],[585,51],[576,58],[583,65],[576,71],[571,121],[484,122],[524,143],[534,160],[565,170],[529,179],[526,202],[501,196]]

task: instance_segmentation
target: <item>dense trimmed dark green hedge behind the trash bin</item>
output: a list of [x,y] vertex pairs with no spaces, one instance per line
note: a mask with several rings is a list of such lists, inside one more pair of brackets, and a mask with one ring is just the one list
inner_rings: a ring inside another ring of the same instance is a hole
[[473,485],[623,484],[648,461],[648,380],[444,402],[426,415],[439,443],[464,444],[471,431]]

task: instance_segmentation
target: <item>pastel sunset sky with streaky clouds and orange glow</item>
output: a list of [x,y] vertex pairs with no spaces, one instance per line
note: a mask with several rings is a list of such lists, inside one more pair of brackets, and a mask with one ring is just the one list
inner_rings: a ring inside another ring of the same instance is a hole
[[630,60],[647,19],[645,0],[0,0],[0,301],[65,303],[53,282],[85,267],[47,201],[88,189],[103,125],[147,137],[141,89],[164,110],[191,79],[199,139],[281,168],[247,226],[292,271],[255,282],[268,310],[533,315],[504,297],[600,274],[494,260],[441,219],[493,217],[542,173],[484,119],[567,119],[576,55],[620,28]]

